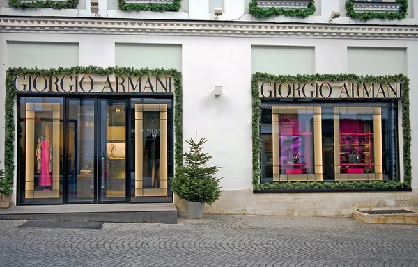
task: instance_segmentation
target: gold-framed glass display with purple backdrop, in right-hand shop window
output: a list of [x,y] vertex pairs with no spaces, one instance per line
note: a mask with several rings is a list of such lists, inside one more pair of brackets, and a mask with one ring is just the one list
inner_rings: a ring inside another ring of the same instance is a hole
[[314,153],[322,149],[320,107],[272,106],[271,113],[271,146],[262,154],[271,147],[272,181],[320,181],[322,159]]

